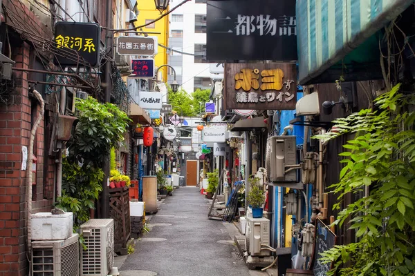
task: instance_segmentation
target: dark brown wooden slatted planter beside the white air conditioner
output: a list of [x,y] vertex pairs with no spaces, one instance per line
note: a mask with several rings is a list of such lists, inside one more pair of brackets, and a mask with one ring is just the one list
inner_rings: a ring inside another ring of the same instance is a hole
[[109,189],[109,215],[114,220],[114,251],[126,255],[131,235],[128,187]]

